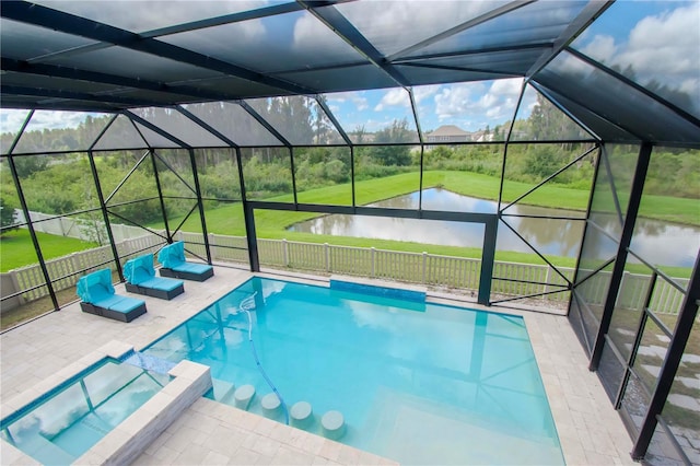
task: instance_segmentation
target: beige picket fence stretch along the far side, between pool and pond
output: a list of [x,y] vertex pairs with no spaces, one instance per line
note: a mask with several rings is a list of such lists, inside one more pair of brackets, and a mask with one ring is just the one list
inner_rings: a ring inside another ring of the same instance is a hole
[[[185,242],[201,242],[201,234],[183,233]],[[245,248],[245,237],[209,235],[212,259],[234,263],[247,263],[247,252],[243,249],[222,249],[226,245]],[[195,251],[195,245],[188,249]],[[221,252],[221,253],[220,253]],[[220,254],[226,254],[223,257]],[[478,290],[481,260],[464,257],[439,256],[428,253],[402,253],[397,251],[376,249],[374,247],[336,246],[328,243],[301,243],[287,240],[258,240],[260,265],[293,270],[306,270],[317,273],[339,273],[348,276],[380,278],[385,280],[420,283],[431,287],[446,287],[465,290]],[[574,269],[560,267],[559,271],[569,280],[573,279]],[[603,271],[592,277],[584,284],[585,295],[590,304],[600,305],[607,295],[610,272]],[[491,291],[500,295],[522,296],[536,293],[562,290],[565,281],[549,266],[495,261]],[[521,280],[521,281],[510,281]],[[621,293],[617,306],[623,308],[641,308],[646,296],[650,276],[625,272]],[[674,279],[684,289],[688,279]],[[658,313],[677,314],[682,303],[682,293],[663,279],[656,281],[650,307]],[[552,302],[567,302],[569,292],[552,293],[542,296]]]

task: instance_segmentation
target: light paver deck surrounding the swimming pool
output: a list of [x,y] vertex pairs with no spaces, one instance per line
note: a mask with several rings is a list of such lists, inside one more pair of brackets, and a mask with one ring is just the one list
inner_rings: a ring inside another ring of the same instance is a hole
[[[266,275],[264,275],[266,276]],[[59,370],[112,340],[141,349],[252,277],[241,269],[215,267],[209,280],[186,282],[185,293],[172,301],[142,296],[148,313],[129,324],[80,311],[78,303],[47,314],[0,336],[0,401],[31,400],[34,387]],[[275,276],[295,281],[311,276]],[[312,281],[328,283],[327,278]],[[126,293],[124,284],[115,287]],[[429,294],[430,302],[482,308]],[[488,308],[489,311],[497,311]],[[569,465],[635,464],[622,421],[612,409],[569,322],[563,316],[516,312],[525,318],[545,383],[557,431]],[[0,442],[0,464],[21,464]],[[395,462],[290,428],[266,418],[201,398],[161,434],[135,464],[324,465]]]

